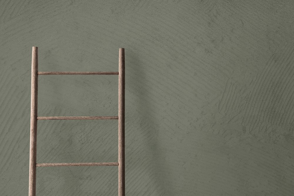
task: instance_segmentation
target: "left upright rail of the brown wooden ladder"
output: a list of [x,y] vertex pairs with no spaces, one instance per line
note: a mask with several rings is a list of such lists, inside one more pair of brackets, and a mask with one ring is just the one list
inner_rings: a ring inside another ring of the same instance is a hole
[[31,131],[29,162],[29,196],[36,195],[37,113],[38,113],[38,47],[32,48]]

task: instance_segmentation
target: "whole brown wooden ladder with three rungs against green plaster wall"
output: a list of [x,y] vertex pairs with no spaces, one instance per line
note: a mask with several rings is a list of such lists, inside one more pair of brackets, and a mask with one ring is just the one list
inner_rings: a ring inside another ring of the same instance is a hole
[[[38,116],[38,75],[118,75],[118,116]],[[36,163],[37,120],[118,120],[118,162],[114,163]],[[38,71],[38,47],[32,48],[31,133],[29,196],[36,195],[36,167],[118,166],[118,195],[125,195],[125,51],[119,48],[118,72],[44,72]]]

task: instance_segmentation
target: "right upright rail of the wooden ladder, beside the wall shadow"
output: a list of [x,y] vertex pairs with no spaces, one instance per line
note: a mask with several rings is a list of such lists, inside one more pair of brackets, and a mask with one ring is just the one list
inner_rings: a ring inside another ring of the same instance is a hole
[[125,195],[125,49],[118,54],[118,195]]

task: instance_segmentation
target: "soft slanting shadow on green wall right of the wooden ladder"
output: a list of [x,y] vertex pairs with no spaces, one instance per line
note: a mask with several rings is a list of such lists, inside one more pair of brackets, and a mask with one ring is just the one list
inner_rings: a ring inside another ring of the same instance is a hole
[[[168,165],[164,165],[165,152],[160,148],[160,141],[158,140],[158,133],[161,131],[154,113],[156,112],[156,105],[153,104],[154,99],[151,88],[148,82],[152,78],[148,78],[147,71],[152,71],[152,67],[146,62],[142,62],[138,57],[140,55],[134,51],[126,51],[126,89],[133,94],[132,108],[133,116],[128,117],[136,124],[137,135],[140,138],[138,143],[132,143],[130,146],[132,150],[131,158],[136,160],[130,170],[135,173],[129,173],[130,176],[126,176],[131,179],[132,176],[139,176],[138,173],[143,172],[142,176],[148,182],[142,182],[138,179],[134,179],[133,182],[129,181],[133,186],[144,186],[148,195],[173,195],[173,187],[168,183]],[[126,110],[128,108],[126,107]],[[134,120],[136,119],[136,120]],[[128,135],[128,134],[127,134]],[[130,134],[131,138],[135,135]],[[127,137],[127,136],[126,136]],[[126,138],[127,140],[131,140]],[[141,142],[141,143],[140,143]],[[128,149],[126,149],[128,151]],[[144,157],[143,157],[144,156]],[[139,164],[138,164],[139,163]],[[129,164],[131,165],[131,164]],[[134,169],[136,168],[136,169]],[[136,188],[133,188],[133,190]],[[139,188],[140,189],[140,188]],[[141,188],[142,189],[142,188]],[[153,189],[153,190],[152,190]],[[143,192],[140,192],[141,194]]]

